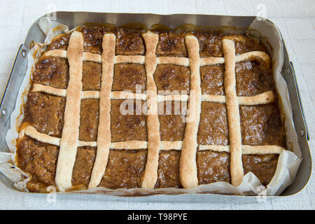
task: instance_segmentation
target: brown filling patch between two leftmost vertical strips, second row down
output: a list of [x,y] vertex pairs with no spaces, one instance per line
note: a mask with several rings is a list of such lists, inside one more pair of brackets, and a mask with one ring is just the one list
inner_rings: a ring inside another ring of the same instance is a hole
[[101,90],[102,64],[83,62],[82,84],[85,90]]

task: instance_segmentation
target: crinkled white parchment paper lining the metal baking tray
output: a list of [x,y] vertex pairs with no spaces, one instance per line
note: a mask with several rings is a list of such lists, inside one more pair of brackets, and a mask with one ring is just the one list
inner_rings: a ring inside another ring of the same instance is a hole
[[[13,181],[15,188],[18,190],[27,191],[26,183],[29,181],[29,174],[22,172],[13,163],[15,161],[16,153],[16,139],[18,139],[18,127],[23,119],[23,111],[21,111],[21,105],[27,100],[27,92],[30,88],[31,73],[34,69],[36,59],[41,56],[41,52],[48,45],[52,38],[57,34],[62,34],[69,31],[66,25],[59,24],[58,22],[50,21],[47,18],[43,18],[38,22],[39,27],[46,34],[44,43],[35,43],[34,48],[29,51],[28,54],[28,67],[25,78],[20,86],[18,98],[15,104],[15,110],[11,114],[10,118],[10,130],[6,134],[6,142],[10,153],[0,152],[0,172],[3,173],[8,179]],[[293,125],[292,109],[290,105],[290,99],[288,95],[288,87],[286,81],[281,76],[281,68],[283,65],[283,45],[281,41],[281,35],[277,29],[270,29],[273,27],[271,22],[257,18],[254,20],[248,34],[251,36],[262,38],[262,41],[267,40],[272,46],[272,61],[274,71],[274,81],[276,83],[276,90],[279,93],[281,99],[280,108],[285,118],[285,129],[287,146],[292,146],[293,152],[282,151],[279,155],[278,165],[272,181],[270,181],[267,188],[262,186],[259,179],[252,173],[248,172],[244,177],[241,185],[232,186],[226,182],[216,182],[210,184],[204,184],[191,189],[175,189],[175,188],[162,188],[162,189],[117,189],[111,190],[107,188],[92,188],[89,190],[80,190],[76,193],[101,193],[117,196],[133,196],[133,195],[155,195],[155,194],[184,194],[184,193],[217,193],[225,195],[280,195],[284,189],[290,186],[295,179],[297,169],[302,161],[300,146],[297,141],[297,134]],[[259,30],[259,32],[258,32]],[[270,33],[270,30],[274,32]],[[22,113],[22,115],[21,115]],[[8,162],[11,160],[11,162]],[[13,162],[12,162],[13,161]]]

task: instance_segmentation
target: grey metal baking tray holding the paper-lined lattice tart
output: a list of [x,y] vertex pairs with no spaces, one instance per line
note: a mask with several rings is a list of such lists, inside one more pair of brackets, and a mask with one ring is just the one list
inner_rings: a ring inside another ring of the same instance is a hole
[[[253,16],[221,16],[221,15],[191,15],[191,14],[174,14],[174,15],[155,15],[155,14],[132,14],[132,13],[90,13],[90,12],[53,12],[48,15],[43,15],[41,18],[48,17],[56,22],[67,25],[69,29],[78,25],[83,25],[87,22],[106,22],[115,25],[123,25],[129,22],[141,22],[151,27],[151,25],[162,24],[168,27],[179,27],[183,24],[193,24],[202,27],[241,27],[246,29],[251,23],[256,20]],[[3,93],[0,106],[0,151],[8,152],[6,145],[6,132],[10,129],[10,114],[14,110],[15,102],[18,96],[18,90],[22,83],[27,70],[27,53],[31,43],[43,43],[45,34],[38,27],[38,18],[30,27],[25,39],[25,43],[20,45],[18,54],[13,64],[13,69],[10,73],[6,90]],[[276,26],[269,20],[274,29]],[[279,31],[280,32],[280,31]],[[282,38],[283,42],[283,38]],[[311,153],[309,151],[309,132],[307,130],[306,119],[304,117],[300,93],[297,87],[295,71],[293,64],[290,62],[286,51],[285,43],[283,42],[284,62],[281,74],[286,80],[289,90],[290,103],[293,110],[293,123],[297,132],[298,143],[302,153],[302,162],[297,171],[295,181],[283,191],[281,196],[266,196],[268,199],[275,197],[285,197],[299,193],[305,186],[311,176],[312,162]],[[13,188],[10,181],[0,174],[0,180],[10,188]],[[36,193],[41,195],[41,193]],[[89,200],[104,200],[104,201],[133,201],[133,202],[233,202],[239,200],[258,200],[259,196],[230,196],[230,195],[214,195],[214,194],[185,194],[185,195],[150,195],[141,197],[119,197],[113,195],[91,195],[76,193],[58,193],[60,197],[69,199],[80,198]]]

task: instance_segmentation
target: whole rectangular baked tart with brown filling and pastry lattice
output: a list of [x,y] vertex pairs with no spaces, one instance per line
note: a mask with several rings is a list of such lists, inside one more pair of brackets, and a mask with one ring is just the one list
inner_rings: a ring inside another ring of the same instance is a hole
[[286,150],[271,65],[245,34],[81,26],[56,36],[20,126],[28,190],[238,186],[247,172],[267,186]]

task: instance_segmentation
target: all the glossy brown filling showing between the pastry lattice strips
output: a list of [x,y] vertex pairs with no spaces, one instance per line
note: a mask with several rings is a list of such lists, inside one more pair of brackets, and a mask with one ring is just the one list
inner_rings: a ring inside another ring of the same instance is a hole
[[[141,29],[111,29],[109,27],[83,27],[84,51],[101,54],[102,38],[107,32],[116,35],[116,55],[144,55],[146,48]],[[200,43],[200,57],[223,57],[223,34],[196,31]],[[69,34],[57,36],[47,50],[66,50]],[[253,50],[266,51],[255,39],[245,35],[230,34],[235,41],[237,55]],[[187,57],[184,34],[160,31],[156,55],[167,57]],[[235,68],[237,95],[253,96],[266,91],[274,91],[271,72],[259,60],[238,62]],[[34,83],[66,89],[69,82],[67,59],[41,57],[33,73]],[[203,66],[200,68],[202,94],[224,95],[224,65]],[[83,62],[83,90],[100,90],[102,64]],[[189,67],[172,64],[159,64],[153,74],[157,90],[169,91],[160,94],[189,94]],[[146,90],[146,71],[141,64],[115,64],[112,91],[136,92]],[[172,93],[173,92],[173,93]],[[34,126],[38,132],[52,137],[61,137],[64,124],[66,99],[50,94],[30,92],[25,105],[23,122]],[[141,111],[144,102],[111,100],[111,141],[147,141],[146,115]],[[182,104],[183,105],[183,104]],[[283,122],[280,118],[278,102],[260,106],[240,106],[242,144],[286,146]],[[129,106],[132,106],[129,108]],[[140,111],[137,109],[140,106]],[[159,103],[161,141],[182,141],[185,134],[187,105],[181,107],[175,102]],[[121,109],[127,114],[120,113]],[[168,112],[167,112],[168,111]],[[179,113],[175,113],[179,111]],[[83,99],[80,106],[81,141],[97,141],[99,124],[99,99]],[[228,146],[228,119],[225,104],[202,102],[197,143],[202,145]],[[38,192],[45,186],[55,186],[55,169],[59,147],[43,144],[30,137],[18,141],[19,167],[31,174],[27,187]],[[79,147],[73,167],[72,184],[76,188],[87,188],[97,148]],[[179,175],[181,151],[160,151],[158,181],[155,188],[182,188]],[[99,186],[116,188],[141,188],[146,167],[147,150],[110,150],[106,172]],[[272,179],[278,155],[242,155],[244,173],[253,172],[262,184]],[[230,183],[230,153],[197,151],[197,176],[199,184],[225,181]]]

